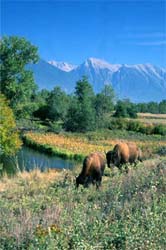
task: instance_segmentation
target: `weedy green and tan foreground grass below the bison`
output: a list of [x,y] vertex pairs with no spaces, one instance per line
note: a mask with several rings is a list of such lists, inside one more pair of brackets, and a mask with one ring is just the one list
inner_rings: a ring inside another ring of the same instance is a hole
[[1,179],[1,250],[165,248],[166,157],[106,168],[99,191],[75,189],[80,169]]

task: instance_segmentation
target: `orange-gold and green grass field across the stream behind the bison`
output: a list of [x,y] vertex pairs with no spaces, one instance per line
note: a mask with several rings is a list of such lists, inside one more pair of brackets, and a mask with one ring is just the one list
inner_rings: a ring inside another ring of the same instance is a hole
[[75,160],[83,160],[92,152],[107,152],[121,140],[135,141],[143,150],[144,158],[151,157],[159,148],[166,147],[166,136],[145,135],[126,130],[100,130],[85,134],[28,132],[24,135],[24,142],[30,147]]

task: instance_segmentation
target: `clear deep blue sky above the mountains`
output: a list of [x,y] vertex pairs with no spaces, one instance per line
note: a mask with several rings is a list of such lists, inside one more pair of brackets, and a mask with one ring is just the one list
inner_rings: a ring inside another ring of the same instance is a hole
[[45,60],[166,66],[166,0],[1,0],[1,36],[24,36]]

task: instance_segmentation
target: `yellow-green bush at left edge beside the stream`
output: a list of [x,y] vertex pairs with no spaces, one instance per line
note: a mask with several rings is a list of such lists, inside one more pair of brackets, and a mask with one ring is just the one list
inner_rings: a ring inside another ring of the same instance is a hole
[[0,94],[0,156],[14,155],[21,146],[13,112],[4,95]]

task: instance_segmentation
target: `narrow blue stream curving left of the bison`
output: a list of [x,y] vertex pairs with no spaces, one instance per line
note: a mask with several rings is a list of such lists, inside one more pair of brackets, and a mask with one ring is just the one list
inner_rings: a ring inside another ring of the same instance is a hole
[[62,159],[56,156],[46,155],[34,149],[23,146],[19,153],[12,158],[3,160],[3,165],[8,173],[16,169],[30,171],[38,168],[44,171],[48,168],[72,169],[75,162]]

